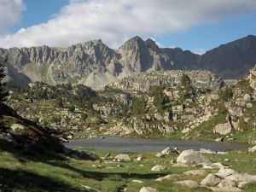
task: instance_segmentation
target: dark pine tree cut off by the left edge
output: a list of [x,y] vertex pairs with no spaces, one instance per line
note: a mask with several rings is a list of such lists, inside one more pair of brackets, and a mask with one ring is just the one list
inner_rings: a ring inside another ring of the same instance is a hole
[[4,71],[6,62],[7,62],[7,57],[5,58],[0,57],[0,103],[5,102],[9,94],[8,90],[6,90],[5,88],[6,83],[3,82],[3,78],[6,75]]

